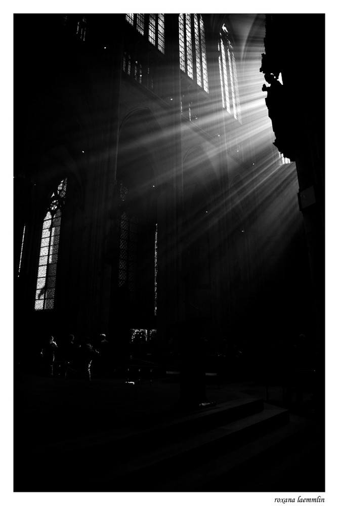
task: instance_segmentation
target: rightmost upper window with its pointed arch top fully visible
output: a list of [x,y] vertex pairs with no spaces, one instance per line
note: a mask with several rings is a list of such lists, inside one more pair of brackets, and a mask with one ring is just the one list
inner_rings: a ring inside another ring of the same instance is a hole
[[237,69],[233,47],[225,25],[220,32],[218,50],[223,108],[241,123]]

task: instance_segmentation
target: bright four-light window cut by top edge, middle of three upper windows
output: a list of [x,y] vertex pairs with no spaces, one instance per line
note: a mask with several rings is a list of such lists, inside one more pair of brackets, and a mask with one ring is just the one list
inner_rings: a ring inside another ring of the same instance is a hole
[[180,68],[208,93],[205,30],[201,14],[179,14]]

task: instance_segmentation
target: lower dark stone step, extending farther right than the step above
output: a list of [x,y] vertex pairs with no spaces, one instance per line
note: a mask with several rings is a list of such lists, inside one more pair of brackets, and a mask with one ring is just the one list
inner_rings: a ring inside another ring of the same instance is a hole
[[157,449],[131,456],[125,462],[110,463],[100,476],[92,476],[89,490],[166,491],[171,476],[175,483],[176,477],[188,469],[230,454],[239,446],[288,424],[288,420],[287,410],[268,407],[177,442],[168,443],[164,432],[163,442]]

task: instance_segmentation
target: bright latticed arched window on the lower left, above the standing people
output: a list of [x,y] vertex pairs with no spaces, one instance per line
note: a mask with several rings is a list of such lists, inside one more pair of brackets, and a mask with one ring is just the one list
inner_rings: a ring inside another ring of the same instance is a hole
[[34,309],[53,309],[56,285],[61,209],[65,203],[67,178],[51,192],[41,233]]

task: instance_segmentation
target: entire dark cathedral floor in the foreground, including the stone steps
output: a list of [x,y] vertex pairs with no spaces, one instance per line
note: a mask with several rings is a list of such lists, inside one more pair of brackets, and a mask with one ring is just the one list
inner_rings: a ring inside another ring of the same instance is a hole
[[178,409],[169,372],[17,374],[14,490],[324,490],[323,419],[305,385],[288,400],[277,383],[208,375],[211,404]]

